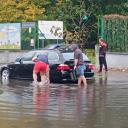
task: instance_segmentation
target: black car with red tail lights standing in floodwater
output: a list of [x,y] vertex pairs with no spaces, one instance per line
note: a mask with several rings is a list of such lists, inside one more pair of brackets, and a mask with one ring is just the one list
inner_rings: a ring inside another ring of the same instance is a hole
[[[59,49],[32,50],[26,53],[23,57],[17,58],[14,63],[10,63],[1,67],[1,77],[6,77],[10,79],[32,80],[32,72],[34,67],[34,62],[32,61],[32,58],[35,55],[38,55],[46,51],[48,52],[51,82],[77,80],[75,79],[73,72],[73,52]],[[86,64],[85,77],[87,79],[92,79],[94,76],[93,65],[84,53],[83,57],[84,62]]]

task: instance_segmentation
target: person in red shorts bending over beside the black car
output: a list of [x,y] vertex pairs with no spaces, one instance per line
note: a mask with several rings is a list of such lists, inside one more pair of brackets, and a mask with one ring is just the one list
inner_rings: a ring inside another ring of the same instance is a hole
[[48,84],[50,84],[49,80],[49,63],[48,63],[48,56],[47,53],[39,54],[32,58],[32,60],[35,63],[34,69],[33,69],[33,80],[36,84],[37,81],[37,74],[40,73],[41,76],[41,84],[45,84],[47,81]]

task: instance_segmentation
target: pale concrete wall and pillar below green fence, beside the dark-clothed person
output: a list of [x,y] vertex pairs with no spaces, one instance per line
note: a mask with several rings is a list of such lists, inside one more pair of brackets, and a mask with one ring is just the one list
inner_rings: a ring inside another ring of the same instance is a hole
[[[99,48],[95,47],[96,67],[99,67]],[[107,52],[106,60],[108,68],[128,68],[128,53]]]

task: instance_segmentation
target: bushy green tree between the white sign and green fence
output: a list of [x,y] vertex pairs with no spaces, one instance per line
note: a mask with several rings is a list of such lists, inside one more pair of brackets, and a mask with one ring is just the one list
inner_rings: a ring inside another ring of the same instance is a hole
[[57,19],[64,21],[66,42],[75,41],[83,47],[96,28],[94,4],[83,0],[66,0],[57,10],[57,15]]

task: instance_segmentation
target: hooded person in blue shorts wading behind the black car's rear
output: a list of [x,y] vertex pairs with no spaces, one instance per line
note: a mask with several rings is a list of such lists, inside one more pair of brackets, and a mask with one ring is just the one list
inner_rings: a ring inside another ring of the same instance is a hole
[[78,86],[81,86],[83,83],[84,86],[87,86],[86,78],[84,76],[85,64],[83,60],[82,51],[79,49],[77,44],[72,44],[70,48],[74,51],[74,69],[78,69]]

